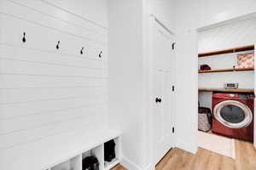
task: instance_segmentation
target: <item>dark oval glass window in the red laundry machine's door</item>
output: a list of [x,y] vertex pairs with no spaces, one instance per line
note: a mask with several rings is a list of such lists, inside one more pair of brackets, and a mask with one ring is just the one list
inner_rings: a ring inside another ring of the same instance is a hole
[[226,122],[230,123],[242,122],[246,117],[244,111],[236,105],[224,105],[219,112],[220,116],[222,116]]

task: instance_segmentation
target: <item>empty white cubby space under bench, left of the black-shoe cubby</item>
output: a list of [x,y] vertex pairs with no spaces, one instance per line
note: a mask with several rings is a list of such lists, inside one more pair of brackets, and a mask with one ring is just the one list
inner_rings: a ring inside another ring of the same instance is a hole
[[55,167],[51,167],[50,170],[82,170],[81,160],[82,156],[76,156]]

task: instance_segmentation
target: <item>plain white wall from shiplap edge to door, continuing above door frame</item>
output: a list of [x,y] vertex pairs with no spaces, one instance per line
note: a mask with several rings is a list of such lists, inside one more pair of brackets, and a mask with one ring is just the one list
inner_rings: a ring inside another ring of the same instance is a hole
[[172,3],[109,1],[108,121],[111,127],[122,130],[123,162],[129,169],[151,166],[148,20],[154,14],[166,26],[173,26]]

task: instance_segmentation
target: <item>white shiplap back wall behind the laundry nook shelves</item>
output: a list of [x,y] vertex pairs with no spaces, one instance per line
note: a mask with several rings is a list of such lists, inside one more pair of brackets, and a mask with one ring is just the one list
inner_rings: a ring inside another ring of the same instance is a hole
[[[198,51],[203,53],[224,48],[252,45],[255,43],[255,30],[256,18],[249,18],[201,31],[198,38]],[[236,55],[248,52],[252,51],[202,57],[199,58],[199,65],[207,64],[212,69],[232,68],[233,65],[236,65]],[[238,82],[239,88],[253,88],[253,75],[254,71],[199,74],[199,88],[224,88],[225,82]],[[202,106],[212,107],[212,93],[200,93],[199,100]]]

